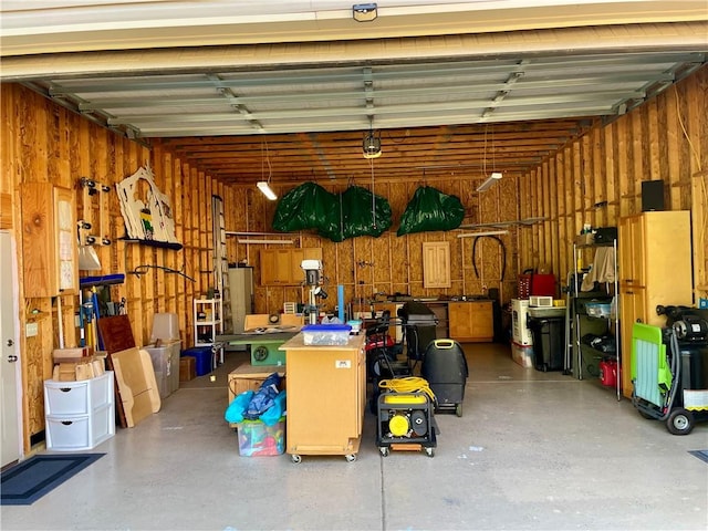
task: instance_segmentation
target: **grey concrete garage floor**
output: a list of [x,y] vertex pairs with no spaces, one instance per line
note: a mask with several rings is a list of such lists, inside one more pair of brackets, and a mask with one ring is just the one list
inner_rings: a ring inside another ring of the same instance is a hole
[[673,436],[613,391],[465,345],[464,416],[439,414],[434,458],[381,457],[366,413],[355,462],[240,457],[223,420],[228,353],[163,409],[94,451],[106,455],[3,530],[708,529],[708,424]]

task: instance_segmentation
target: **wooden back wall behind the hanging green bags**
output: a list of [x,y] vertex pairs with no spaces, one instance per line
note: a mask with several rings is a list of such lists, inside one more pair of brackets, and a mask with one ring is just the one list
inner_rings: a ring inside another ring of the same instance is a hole
[[[327,186],[329,191],[344,191],[345,187]],[[502,180],[485,194],[477,194],[469,180],[427,179],[433,186],[446,194],[456,195],[467,208],[469,216],[465,222],[501,221],[518,219],[517,181],[514,178]],[[368,301],[374,293],[407,293],[418,296],[481,294],[496,288],[509,300],[516,294],[516,231],[502,236],[504,249],[498,242],[482,239],[478,243],[477,266],[479,278],[471,262],[471,238],[457,238],[456,231],[421,232],[398,237],[396,231],[400,216],[414,192],[424,183],[417,178],[407,183],[375,184],[375,194],[386,198],[393,211],[394,222],[389,230],[378,238],[358,237],[343,242],[332,242],[311,233],[285,235],[294,238],[295,247],[321,247],[323,269],[326,278],[325,291],[331,295],[322,303],[326,310],[334,311],[336,287],[344,287],[345,302],[360,299]],[[371,189],[371,183],[367,186]],[[288,189],[278,189],[282,197]],[[509,198],[509,200],[507,200]],[[229,231],[270,232],[275,202],[266,201],[256,187],[231,187],[226,191],[226,226]],[[242,212],[247,212],[247,217]],[[279,239],[279,237],[267,237]],[[449,241],[452,285],[449,289],[429,290],[423,288],[423,242]],[[236,238],[228,240],[229,262],[246,262],[254,267],[256,282],[260,273],[259,250],[273,244],[246,246],[237,243]],[[502,282],[502,252],[506,252],[507,268]],[[304,281],[304,273],[303,273]],[[381,296],[381,295],[379,295]],[[257,313],[274,313],[283,308],[283,302],[306,302],[308,291],[300,287],[266,288],[256,285],[254,308]]]

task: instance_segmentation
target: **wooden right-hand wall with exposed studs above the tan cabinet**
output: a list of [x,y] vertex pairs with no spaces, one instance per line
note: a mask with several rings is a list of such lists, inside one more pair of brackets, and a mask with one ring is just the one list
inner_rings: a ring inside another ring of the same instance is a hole
[[[522,217],[545,216],[522,232],[521,263],[573,269],[583,223],[617,226],[642,211],[642,181],[665,181],[667,210],[691,210],[696,298],[708,296],[708,67],[560,149],[520,180]],[[622,244],[620,242],[620,244]]]

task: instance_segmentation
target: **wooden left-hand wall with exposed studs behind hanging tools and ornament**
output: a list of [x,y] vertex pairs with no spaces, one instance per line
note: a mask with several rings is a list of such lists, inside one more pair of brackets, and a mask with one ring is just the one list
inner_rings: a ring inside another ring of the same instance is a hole
[[[2,85],[0,105],[0,229],[13,231],[18,246],[20,331],[28,322],[39,325],[37,336],[24,337],[18,332],[27,451],[31,446],[30,438],[44,429],[42,385],[52,375],[52,350],[59,345],[59,326],[58,298],[24,296],[20,187],[24,183],[49,181],[56,187],[74,189],[81,218],[83,194],[77,183],[82,176],[112,186],[140,166],[152,164],[157,186],[173,200],[177,238],[184,243],[184,250],[156,249],[122,240],[125,236],[123,218],[117,197],[112,192],[108,199],[108,236],[113,243],[96,248],[102,270],[91,273],[127,273],[124,284],[111,288],[112,299],[125,299],[133,334],[140,345],[149,340],[154,312],[176,312],[180,319],[183,341],[191,341],[191,300],[197,293],[206,293],[211,283],[211,194],[222,190],[197,169],[180,165],[168,155],[156,158],[148,148],[98,127],[19,85]],[[195,278],[196,282],[153,268],[139,278],[129,274],[143,264],[179,270]],[[65,345],[74,346],[79,341],[74,327],[77,296],[62,295],[61,306]]]

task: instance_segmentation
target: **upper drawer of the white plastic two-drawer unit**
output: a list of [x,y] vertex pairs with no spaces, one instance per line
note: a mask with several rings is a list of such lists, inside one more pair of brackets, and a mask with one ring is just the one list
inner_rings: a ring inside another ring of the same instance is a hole
[[80,382],[44,382],[46,415],[86,415],[113,400],[113,373]]

